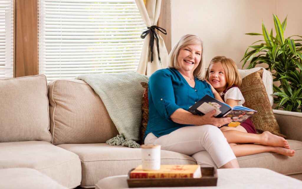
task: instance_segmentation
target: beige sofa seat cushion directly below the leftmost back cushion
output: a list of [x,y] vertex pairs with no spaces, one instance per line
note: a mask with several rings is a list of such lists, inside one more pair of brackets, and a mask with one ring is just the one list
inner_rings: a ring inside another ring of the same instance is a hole
[[33,168],[68,188],[80,185],[82,178],[78,155],[43,141],[0,143],[4,168]]

